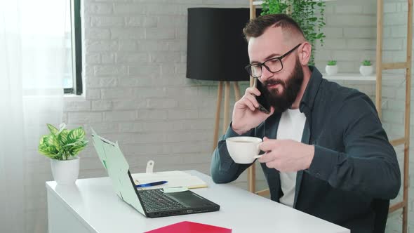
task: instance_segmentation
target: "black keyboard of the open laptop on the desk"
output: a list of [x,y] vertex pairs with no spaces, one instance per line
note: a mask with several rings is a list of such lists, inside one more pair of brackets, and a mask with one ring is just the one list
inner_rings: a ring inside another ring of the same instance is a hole
[[171,211],[185,208],[178,201],[167,197],[161,189],[138,190],[145,209],[148,212],[154,211]]

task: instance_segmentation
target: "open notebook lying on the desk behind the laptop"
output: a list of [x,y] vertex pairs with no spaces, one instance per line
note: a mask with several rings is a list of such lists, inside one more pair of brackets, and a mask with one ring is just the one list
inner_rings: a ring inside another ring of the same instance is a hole
[[141,185],[149,182],[167,181],[164,185],[153,187],[143,187],[142,189],[160,189],[164,187],[187,187],[188,189],[196,189],[207,187],[207,183],[183,171],[161,171],[156,173],[136,173],[132,174],[135,185]]

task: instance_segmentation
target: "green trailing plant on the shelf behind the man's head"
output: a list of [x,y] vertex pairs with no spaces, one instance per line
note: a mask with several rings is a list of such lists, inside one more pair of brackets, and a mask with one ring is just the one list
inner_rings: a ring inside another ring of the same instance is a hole
[[[293,20],[305,34],[305,38],[312,45],[315,51],[315,41],[320,41],[323,46],[323,39],[326,37],[322,29],[325,24],[325,3],[314,0],[265,0],[262,4],[262,15],[284,13],[291,15]],[[319,15],[317,15],[319,13]],[[314,53],[311,54],[309,65],[314,65]]]

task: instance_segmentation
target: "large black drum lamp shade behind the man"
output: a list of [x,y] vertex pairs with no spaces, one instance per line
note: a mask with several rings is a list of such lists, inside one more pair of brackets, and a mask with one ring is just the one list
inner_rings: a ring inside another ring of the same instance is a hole
[[248,8],[188,8],[187,78],[248,81]]

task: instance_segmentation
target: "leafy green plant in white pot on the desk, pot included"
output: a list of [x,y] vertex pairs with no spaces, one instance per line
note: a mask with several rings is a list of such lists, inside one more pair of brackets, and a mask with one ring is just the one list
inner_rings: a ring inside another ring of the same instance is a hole
[[59,129],[47,124],[48,135],[39,142],[39,153],[51,158],[52,174],[58,185],[73,184],[79,175],[79,157],[77,155],[88,145],[82,127],[69,130],[60,124]]

